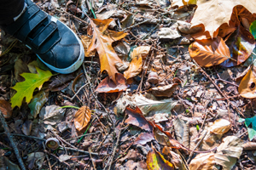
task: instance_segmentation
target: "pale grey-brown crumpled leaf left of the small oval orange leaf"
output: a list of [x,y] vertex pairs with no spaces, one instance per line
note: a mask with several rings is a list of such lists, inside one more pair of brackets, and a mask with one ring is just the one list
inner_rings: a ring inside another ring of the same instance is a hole
[[60,108],[58,105],[47,105],[43,107],[39,113],[39,118],[44,124],[55,125],[64,117],[65,109]]

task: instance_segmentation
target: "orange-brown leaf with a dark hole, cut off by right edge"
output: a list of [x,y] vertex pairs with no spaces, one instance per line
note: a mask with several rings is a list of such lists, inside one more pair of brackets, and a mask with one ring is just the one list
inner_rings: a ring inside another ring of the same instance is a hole
[[241,79],[238,93],[243,98],[256,98],[256,66],[252,66],[245,77]]

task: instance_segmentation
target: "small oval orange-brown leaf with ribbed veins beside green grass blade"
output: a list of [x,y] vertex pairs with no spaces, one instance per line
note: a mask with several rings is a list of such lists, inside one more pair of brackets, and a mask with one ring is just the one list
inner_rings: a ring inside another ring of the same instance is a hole
[[90,109],[87,106],[82,106],[74,116],[74,125],[78,131],[82,131],[90,122]]

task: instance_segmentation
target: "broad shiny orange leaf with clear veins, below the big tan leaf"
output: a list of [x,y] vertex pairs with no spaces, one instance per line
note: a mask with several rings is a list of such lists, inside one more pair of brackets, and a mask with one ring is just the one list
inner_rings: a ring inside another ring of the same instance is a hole
[[230,59],[230,49],[221,37],[196,40],[189,46],[189,54],[199,65],[207,67]]

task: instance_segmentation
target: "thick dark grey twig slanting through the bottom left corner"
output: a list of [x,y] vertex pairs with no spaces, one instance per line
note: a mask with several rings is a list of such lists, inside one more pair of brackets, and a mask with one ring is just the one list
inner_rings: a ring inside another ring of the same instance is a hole
[[16,155],[18,161],[19,161],[21,169],[26,170],[26,167],[25,167],[25,165],[24,165],[24,163],[23,163],[23,161],[20,157],[20,153],[19,153],[19,150],[17,148],[17,144],[15,144],[15,141],[13,139],[12,134],[9,133],[9,127],[8,127],[7,123],[5,122],[5,118],[4,118],[3,112],[1,110],[0,110],[0,119],[1,119],[1,122],[3,124],[4,131],[5,131],[5,133],[7,134],[8,138],[9,138],[10,144],[12,144],[12,146],[15,150],[15,155]]

